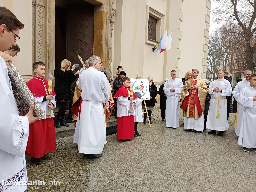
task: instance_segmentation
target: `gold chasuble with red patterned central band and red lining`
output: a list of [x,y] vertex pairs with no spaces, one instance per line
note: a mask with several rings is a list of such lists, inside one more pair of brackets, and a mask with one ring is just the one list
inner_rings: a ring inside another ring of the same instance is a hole
[[[190,89],[189,95],[186,96],[189,87],[194,85],[196,85],[198,89]],[[183,109],[184,117],[193,117],[194,119],[201,118],[202,113],[205,111],[205,99],[207,92],[207,85],[200,77],[198,77],[196,80],[191,78],[186,81],[184,87],[182,88],[182,101],[180,104],[180,108]]]

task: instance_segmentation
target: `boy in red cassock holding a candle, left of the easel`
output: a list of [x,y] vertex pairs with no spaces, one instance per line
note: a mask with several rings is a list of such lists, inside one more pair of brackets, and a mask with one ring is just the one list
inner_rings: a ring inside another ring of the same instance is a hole
[[117,98],[117,138],[122,140],[132,140],[134,138],[134,116],[135,112],[130,112],[131,107],[135,106],[135,102],[131,104],[131,100],[137,96],[133,92],[130,94],[131,79],[125,77],[122,79],[123,86],[116,92]]

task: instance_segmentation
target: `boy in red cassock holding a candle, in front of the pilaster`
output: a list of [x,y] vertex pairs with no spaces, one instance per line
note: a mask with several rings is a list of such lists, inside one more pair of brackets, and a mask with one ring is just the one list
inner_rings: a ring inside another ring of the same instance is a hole
[[[33,64],[35,77],[31,79],[27,86],[34,95],[41,109],[48,113],[49,110],[56,107],[55,92],[48,95],[48,81],[44,79],[45,64],[43,62],[35,62]],[[51,99],[52,105],[49,105]],[[34,164],[42,164],[42,160],[50,160],[51,158],[45,153],[56,151],[55,127],[53,121],[54,115],[46,115],[46,117],[31,123],[29,125],[29,137],[25,154],[30,156],[30,161]]]

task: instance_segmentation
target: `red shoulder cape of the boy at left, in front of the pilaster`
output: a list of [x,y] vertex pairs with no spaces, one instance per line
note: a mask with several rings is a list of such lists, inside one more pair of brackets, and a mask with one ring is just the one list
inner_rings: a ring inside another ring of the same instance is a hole
[[[28,88],[35,97],[44,97],[49,94],[48,92],[48,81],[44,78],[35,76],[27,83]],[[52,89],[52,96],[56,96],[56,93]]]

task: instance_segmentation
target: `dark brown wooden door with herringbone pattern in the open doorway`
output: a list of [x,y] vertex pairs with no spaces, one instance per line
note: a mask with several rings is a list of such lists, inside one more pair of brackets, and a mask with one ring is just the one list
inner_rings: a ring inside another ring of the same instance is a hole
[[78,55],[83,61],[93,55],[94,6],[67,4],[65,8],[67,59],[82,67]]

